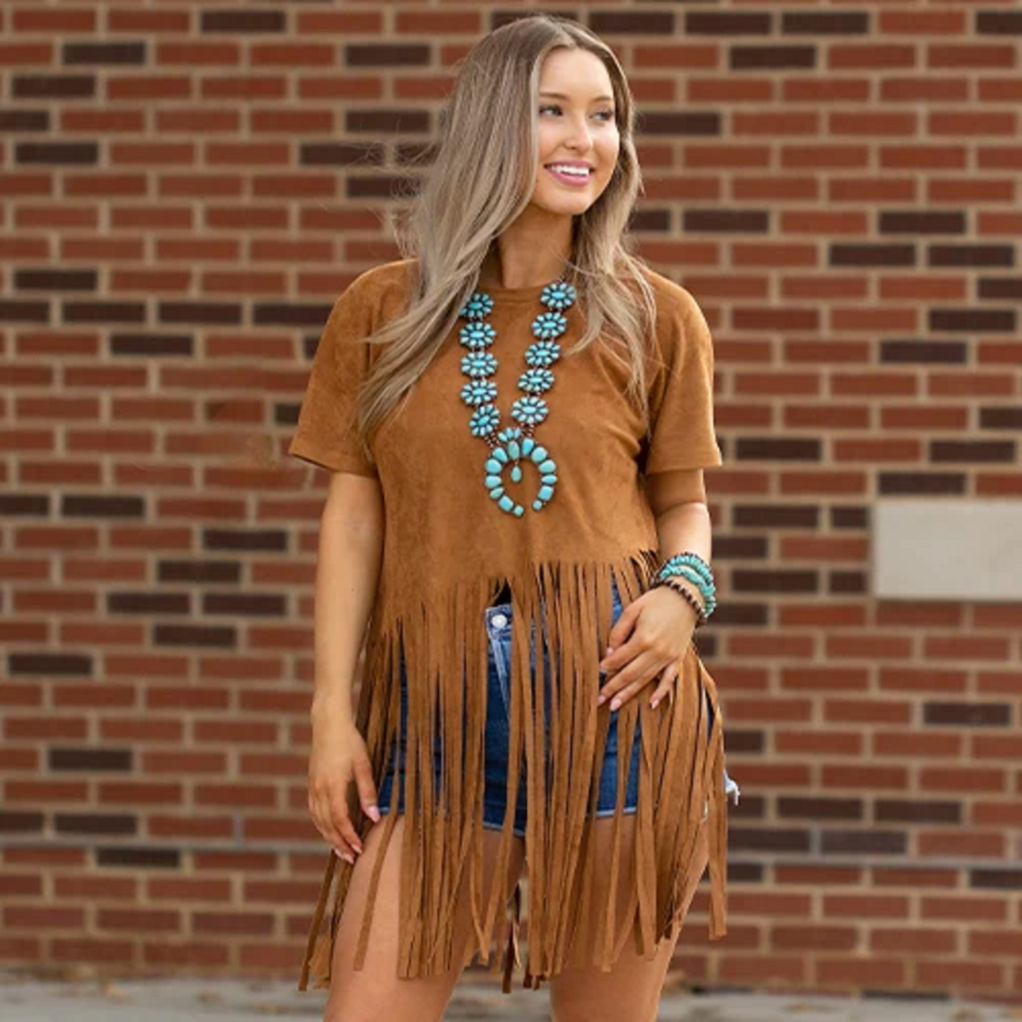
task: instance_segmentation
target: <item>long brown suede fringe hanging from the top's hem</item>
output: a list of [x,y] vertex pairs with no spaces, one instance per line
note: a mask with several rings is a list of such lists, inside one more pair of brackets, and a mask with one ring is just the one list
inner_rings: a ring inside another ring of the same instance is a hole
[[[510,762],[526,765],[525,855],[527,958],[522,985],[539,989],[568,966],[597,965],[609,971],[631,938],[652,958],[659,940],[684,923],[684,901],[700,826],[709,829],[709,936],[727,932],[728,814],[724,778],[724,717],[716,686],[691,645],[682,657],[671,694],[651,709],[648,698],[628,700],[618,710],[617,802],[614,848],[606,872],[594,870],[594,842],[587,811],[599,795],[599,774],[610,724],[609,704],[596,705],[599,661],[611,622],[611,578],[624,605],[649,589],[659,564],[656,551],[640,550],[614,561],[544,562],[527,574],[491,577],[426,599],[406,590],[380,591],[369,625],[364,682],[357,724],[365,737],[377,784],[388,762],[400,725],[400,671],[404,655],[409,679],[405,811],[401,848],[400,956],[403,978],[462,968],[476,957],[491,971],[503,967],[503,989],[511,990],[519,950],[521,884],[513,913],[502,903],[511,851],[520,770],[509,770],[507,804],[498,866],[491,889],[482,889],[482,762],[487,667],[484,611],[505,582],[512,589]],[[549,608],[548,613],[543,611]],[[542,633],[550,675],[536,647],[535,687],[529,640]],[[536,698],[548,691],[547,699]],[[715,721],[706,734],[706,706]],[[550,719],[545,719],[549,709]],[[641,716],[639,806],[631,847],[621,834],[626,769]],[[438,725],[438,728],[437,728]],[[434,742],[444,770],[432,782]],[[393,778],[397,804],[400,775]],[[349,808],[364,838],[374,826],[352,786]],[[379,823],[382,846],[390,841],[398,814]],[[628,911],[616,918],[622,856],[635,864],[636,883]],[[373,905],[384,854],[376,860],[367,911],[362,919],[355,968],[365,963]],[[334,935],[354,867],[332,851],[309,933],[298,989],[330,985]],[[455,947],[454,910],[460,890],[470,892],[472,932]],[[498,916],[507,922],[501,941]],[[324,920],[326,925],[324,926]],[[503,946],[498,946],[498,941]]]

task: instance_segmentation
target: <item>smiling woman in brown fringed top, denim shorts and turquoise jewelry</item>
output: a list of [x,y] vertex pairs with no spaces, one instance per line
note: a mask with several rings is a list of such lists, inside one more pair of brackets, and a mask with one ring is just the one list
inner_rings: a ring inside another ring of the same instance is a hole
[[707,862],[725,932],[737,788],[692,643],[712,345],[624,249],[633,120],[577,24],[485,36],[407,258],[347,287],[317,350],[289,453],[334,473],[309,804],[337,857],[299,980],[328,1022],[439,1019],[474,958],[510,990],[524,869],[524,984],[558,1022],[655,1018]]

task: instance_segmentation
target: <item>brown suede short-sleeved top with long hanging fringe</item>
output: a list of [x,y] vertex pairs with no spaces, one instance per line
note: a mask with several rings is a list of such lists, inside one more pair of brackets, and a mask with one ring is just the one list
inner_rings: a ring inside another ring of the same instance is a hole
[[[566,352],[582,336],[582,303],[565,316],[561,358],[547,392],[549,417],[536,438],[557,463],[551,502],[531,509],[528,468],[517,485],[521,517],[502,511],[483,485],[486,444],[468,427],[461,400],[466,377],[457,326],[445,339],[406,401],[373,438],[375,464],[356,433],[356,396],[379,345],[360,341],[403,311],[414,284],[415,261],[368,270],[337,299],[320,338],[298,424],[288,453],[333,471],[374,476],[383,494],[385,535],[380,582],[366,637],[356,723],[366,741],[377,786],[400,724],[400,673],[408,679],[409,764],[429,762],[438,743],[445,770],[438,787],[431,774],[411,765],[404,778],[407,825],[402,853],[399,975],[423,977],[462,966],[478,956],[491,961],[500,903],[499,865],[490,890],[482,884],[482,761],[487,670],[485,608],[507,583],[512,592],[511,755],[508,814],[499,864],[510,852],[519,771],[527,774],[525,855],[527,962],[524,985],[569,965],[609,969],[630,935],[645,957],[684,921],[683,895],[696,863],[697,837],[708,828],[710,936],[726,932],[727,805],[723,716],[716,689],[694,644],[681,658],[670,697],[651,709],[632,698],[617,711],[619,738],[617,835],[609,876],[593,869],[590,840],[599,793],[599,770],[610,721],[597,706],[599,661],[612,621],[612,582],[623,605],[646,592],[664,556],[657,551],[655,519],[643,486],[645,473],[723,463],[712,418],[713,354],[709,330],[695,300],[680,285],[646,269],[657,299],[654,363],[649,380],[652,435],[624,396],[629,366],[601,341]],[[520,394],[527,368],[530,325],[544,307],[543,286],[486,286],[495,308],[501,427],[515,425],[508,410]],[[542,629],[550,650],[550,678],[530,677],[529,637]],[[555,693],[551,721],[543,721],[541,682]],[[714,725],[707,735],[707,705]],[[635,735],[637,718],[641,731]],[[619,831],[624,782],[634,740],[642,742],[639,805],[634,839]],[[400,778],[394,779],[394,798]],[[353,825],[361,836],[374,826],[353,790]],[[391,811],[383,847],[398,816]],[[630,911],[615,920],[617,862],[635,866]],[[362,920],[355,967],[364,962],[381,851]],[[310,975],[329,985],[333,940],[354,867],[332,850],[309,934],[299,989]],[[457,892],[471,891],[473,932],[454,946]],[[553,896],[556,893],[557,896]],[[520,887],[514,918],[493,968],[504,966],[504,989],[521,965],[517,947]],[[323,923],[326,921],[324,927]]]

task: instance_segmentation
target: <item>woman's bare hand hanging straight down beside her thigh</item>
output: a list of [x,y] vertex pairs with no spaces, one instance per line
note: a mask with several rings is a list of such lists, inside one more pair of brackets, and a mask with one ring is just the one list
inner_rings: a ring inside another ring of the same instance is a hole
[[376,785],[362,735],[350,715],[318,710],[309,755],[309,812],[333,850],[354,866],[353,851],[361,855],[362,842],[347,814],[347,786],[353,778],[362,808],[378,823]]

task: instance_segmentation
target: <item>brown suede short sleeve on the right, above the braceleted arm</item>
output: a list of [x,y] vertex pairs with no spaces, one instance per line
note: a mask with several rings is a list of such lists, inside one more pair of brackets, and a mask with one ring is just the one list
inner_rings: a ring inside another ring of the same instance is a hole
[[702,310],[672,284],[658,313],[663,365],[650,392],[652,436],[640,464],[645,474],[724,464],[713,425],[713,340]]

